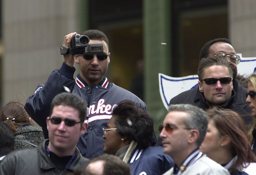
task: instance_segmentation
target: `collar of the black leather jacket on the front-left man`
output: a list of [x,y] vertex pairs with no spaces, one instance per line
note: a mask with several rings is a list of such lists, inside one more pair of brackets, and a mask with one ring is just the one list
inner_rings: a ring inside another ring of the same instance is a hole
[[[39,164],[39,167],[43,170],[56,169],[56,166],[52,163],[52,160],[50,159],[46,151],[46,145],[48,144],[49,144],[49,139],[46,139],[41,145],[37,147],[38,164]],[[80,154],[77,147],[75,152],[76,152],[76,156],[73,159],[73,161],[70,163],[68,168],[66,168],[66,170],[68,169],[68,170],[74,171],[76,168],[78,168],[77,165],[82,166],[82,164],[80,163],[82,155]]]

